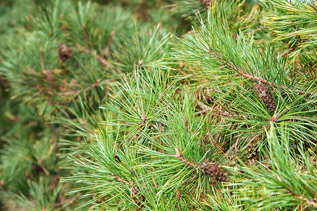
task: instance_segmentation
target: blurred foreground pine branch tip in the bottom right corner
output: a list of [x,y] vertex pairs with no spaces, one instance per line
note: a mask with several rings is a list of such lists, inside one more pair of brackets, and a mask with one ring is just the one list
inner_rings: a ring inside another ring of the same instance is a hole
[[240,176],[235,182],[239,189],[233,192],[241,195],[241,204],[261,205],[249,207],[251,210],[316,207],[316,163],[310,161],[316,153],[311,149],[305,152],[303,145],[298,146],[298,151],[299,154],[290,147],[288,129],[283,128],[278,136],[271,124],[266,148],[269,164],[232,170]]

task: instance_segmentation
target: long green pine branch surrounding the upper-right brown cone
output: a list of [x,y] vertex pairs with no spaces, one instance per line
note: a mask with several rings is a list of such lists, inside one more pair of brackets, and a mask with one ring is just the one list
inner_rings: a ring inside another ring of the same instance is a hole
[[[201,26],[185,36],[175,56],[200,67],[196,76],[208,80],[204,86],[212,90],[210,97],[228,112],[225,119],[235,124],[223,129],[232,135],[248,130],[254,133],[275,122],[278,128],[287,125],[294,129],[292,141],[309,142],[316,136],[316,82],[302,75],[289,79],[292,69],[285,60],[273,56],[273,47],[261,49],[252,37],[243,34],[232,37],[217,15],[223,14],[212,11],[205,21],[200,19]],[[273,88],[273,98],[278,99],[274,113],[256,95],[255,82]]]

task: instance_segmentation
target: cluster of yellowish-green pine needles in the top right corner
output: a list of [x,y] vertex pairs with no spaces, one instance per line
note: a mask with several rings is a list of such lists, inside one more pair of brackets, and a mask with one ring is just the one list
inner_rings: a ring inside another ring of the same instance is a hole
[[[296,57],[302,63],[316,62],[316,3],[308,1],[270,0],[264,3],[273,7],[264,18],[263,23],[275,35],[275,40],[285,41],[287,53],[294,61]],[[269,9],[269,8],[268,8]]]

